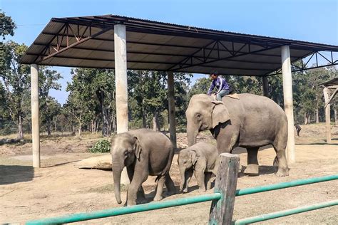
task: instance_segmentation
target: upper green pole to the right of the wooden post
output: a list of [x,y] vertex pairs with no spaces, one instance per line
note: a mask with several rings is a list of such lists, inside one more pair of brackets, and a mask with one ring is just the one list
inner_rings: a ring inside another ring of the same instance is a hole
[[245,189],[238,189],[236,191],[236,196],[241,196],[245,194],[255,194],[259,192],[268,192],[272,190],[277,190],[277,189],[283,189],[287,187],[295,187],[295,186],[300,186],[304,184],[314,184],[318,182],[327,182],[330,180],[338,179],[338,174],[330,175],[330,176],[325,176],[325,177],[312,177],[308,179],[297,179],[291,182],[282,182],[278,184],[270,184],[270,185],[265,185],[265,186],[260,186],[260,187],[250,187],[250,188],[245,188]]

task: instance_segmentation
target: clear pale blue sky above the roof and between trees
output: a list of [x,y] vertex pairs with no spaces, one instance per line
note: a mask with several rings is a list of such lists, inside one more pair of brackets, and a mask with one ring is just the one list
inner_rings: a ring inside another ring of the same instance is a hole
[[[0,9],[17,24],[6,40],[27,46],[52,17],[106,14],[338,46],[338,0],[0,0]],[[71,69],[53,69],[63,79],[62,90],[51,95],[63,104]]]

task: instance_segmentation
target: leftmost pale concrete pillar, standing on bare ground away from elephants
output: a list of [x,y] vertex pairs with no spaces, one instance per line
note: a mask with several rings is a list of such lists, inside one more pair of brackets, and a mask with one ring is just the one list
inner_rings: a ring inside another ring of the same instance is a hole
[[40,168],[39,68],[31,65],[31,140],[33,167]]

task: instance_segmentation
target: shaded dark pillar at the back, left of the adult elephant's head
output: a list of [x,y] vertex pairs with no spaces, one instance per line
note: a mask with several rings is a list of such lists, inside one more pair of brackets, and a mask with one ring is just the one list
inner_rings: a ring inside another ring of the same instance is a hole
[[167,74],[168,74],[168,108],[169,108],[170,140],[173,143],[174,148],[176,148],[177,143],[176,143],[174,73],[167,72]]

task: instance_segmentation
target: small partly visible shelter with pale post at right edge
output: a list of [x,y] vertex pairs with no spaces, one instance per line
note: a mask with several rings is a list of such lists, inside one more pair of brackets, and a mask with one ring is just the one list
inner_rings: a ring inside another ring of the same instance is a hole
[[[330,116],[330,106],[334,97],[336,97],[338,92],[338,78],[333,78],[332,80],[327,80],[320,84],[323,88],[324,100],[325,100],[325,124],[326,124],[326,135],[327,143],[331,143],[331,116]],[[333,93],[330,93],[330,90]]]

